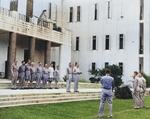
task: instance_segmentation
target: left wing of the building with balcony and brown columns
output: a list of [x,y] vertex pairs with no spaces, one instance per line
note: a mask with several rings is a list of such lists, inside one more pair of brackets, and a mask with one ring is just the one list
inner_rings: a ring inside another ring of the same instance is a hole
[[[71,61],[72,32],[62,27],[61,0],[0,1],[0,72],[10,78],[14,59],[60,66],[60,77]],[[59,14],[57,14],[59,13]],[[66,53],[68,56],[66,57]]]

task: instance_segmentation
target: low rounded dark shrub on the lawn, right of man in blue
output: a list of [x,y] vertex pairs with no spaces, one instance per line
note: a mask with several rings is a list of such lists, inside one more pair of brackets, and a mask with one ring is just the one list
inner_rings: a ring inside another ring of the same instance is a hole
[[132,99],[132,91],[128,86],[126,87],[118,87],[115,89],[115,96],[119,99]]

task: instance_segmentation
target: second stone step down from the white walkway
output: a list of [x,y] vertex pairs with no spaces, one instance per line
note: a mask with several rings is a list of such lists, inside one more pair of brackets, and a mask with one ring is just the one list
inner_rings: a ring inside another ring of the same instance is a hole
[[62,102],[62,101],[68,101],[68,100],[82,100],[82,99],[100,99],[100,96],[76,96],[76,97],[58,97],[58,98],[46,98],[46,99],[30,99],[30,100],[17,100],[17,101],[2,101],[0,102],[1,106],[7,106],[7,105],[18,105],[18,104],[43,104],[45,102]]

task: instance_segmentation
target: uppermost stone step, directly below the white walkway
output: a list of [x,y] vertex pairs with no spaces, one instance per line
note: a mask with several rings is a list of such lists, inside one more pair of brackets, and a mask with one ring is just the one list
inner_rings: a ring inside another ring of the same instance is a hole
[[76,96],[100,96],[100,93],[1,97],[0,102],[1,101],[27,100],[27,99],[29,100],[29,99],[46,99],[46,98],[58,98],[58,97],[76,97]]

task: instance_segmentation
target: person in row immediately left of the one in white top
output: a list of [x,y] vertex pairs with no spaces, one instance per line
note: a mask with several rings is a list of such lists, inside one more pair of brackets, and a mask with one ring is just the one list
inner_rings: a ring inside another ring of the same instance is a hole
[[46,83],[47,83],[47,79],[48,79],[48,65],[45,64],[45,67],[43,68],[43,76],[42,76],[42,85],[43,85],[43,89],[46,89]]

